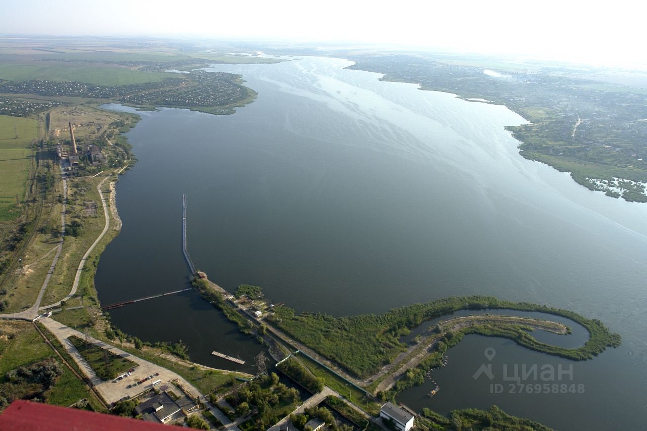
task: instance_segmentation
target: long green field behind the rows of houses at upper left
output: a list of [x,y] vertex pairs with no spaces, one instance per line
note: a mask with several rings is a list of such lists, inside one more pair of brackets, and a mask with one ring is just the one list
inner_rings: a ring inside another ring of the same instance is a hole
[[129,85],[157,82],[168,78],[160,72],[142,72],[123,67],[94,67],[87,65],[14,65],[0,64],[0,80],[6,81],[77,81],[97,85]]

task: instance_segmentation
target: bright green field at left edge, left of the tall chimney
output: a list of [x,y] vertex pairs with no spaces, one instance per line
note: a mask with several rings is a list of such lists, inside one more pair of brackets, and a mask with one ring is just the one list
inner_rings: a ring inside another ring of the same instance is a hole
[[25,198],[33,159],[26,148],[38,137],[38,120],[0,115],[0,221],[17,216],[12,209]]

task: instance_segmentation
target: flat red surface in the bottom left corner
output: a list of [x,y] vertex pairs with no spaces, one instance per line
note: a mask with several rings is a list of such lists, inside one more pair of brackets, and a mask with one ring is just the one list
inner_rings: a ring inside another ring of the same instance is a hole
[[0,431],[161,431],[167,425],[16,400],[0,415]]

